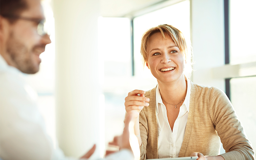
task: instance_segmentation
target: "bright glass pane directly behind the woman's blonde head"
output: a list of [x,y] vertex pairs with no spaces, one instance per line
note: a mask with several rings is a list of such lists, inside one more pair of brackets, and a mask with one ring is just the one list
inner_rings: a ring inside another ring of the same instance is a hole
[[[179,14],[177,14],[179,13]],[[178,28],[186,37],[190,38],[190,2],[182,1],[177,4],[162,8],[160,10],[144,14],[134,18],[134,62],[135,76],[153,77],[148,68],[143,71],[143,64],[140,56],[141,37],[149,28],[169,24]]]

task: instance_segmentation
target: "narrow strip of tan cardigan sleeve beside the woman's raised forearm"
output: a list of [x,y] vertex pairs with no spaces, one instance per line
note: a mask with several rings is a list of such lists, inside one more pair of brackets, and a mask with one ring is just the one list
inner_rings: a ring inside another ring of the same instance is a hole
[[140,146],[140,160],[146,159],[146,148],[148,143],[148,121],[146,119],[144,110],[140,111],[140,137],[142,145]]

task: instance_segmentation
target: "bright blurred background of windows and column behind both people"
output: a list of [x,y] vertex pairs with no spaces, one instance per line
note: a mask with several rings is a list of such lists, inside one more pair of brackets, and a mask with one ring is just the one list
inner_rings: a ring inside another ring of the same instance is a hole
[[[124,98],[157,84],[143,68],[140,40],[160,24],[180,29],[194,50],[190,80],[226,92],[256,148],[255,0],[43,0],[52,44],[25,75],[54,145],[94,157],[124,127]],[[221,149],[221,153],[225,152]]]

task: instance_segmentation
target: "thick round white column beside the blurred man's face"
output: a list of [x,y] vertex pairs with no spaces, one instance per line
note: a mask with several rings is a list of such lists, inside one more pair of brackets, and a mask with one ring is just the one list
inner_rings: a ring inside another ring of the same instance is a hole
[[100,1],[53,0],[53,12],[57,140],[66,156],[75,157],[96,143],[95,155],[99,157],[99,148],[104,145],[97,46]]

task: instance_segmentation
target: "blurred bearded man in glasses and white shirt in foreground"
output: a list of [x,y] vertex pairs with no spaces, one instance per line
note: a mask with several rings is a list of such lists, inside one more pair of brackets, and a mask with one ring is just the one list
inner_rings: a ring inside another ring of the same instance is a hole
[[[53,148],[37,109],[36,92],[20,75],[38,72],[39,55],[51,43],[44,28],[40,0],[1,0],[0,7],[0,157],[2,160],[71,159]],[[121,150],[106,159],[134,159],[131,135],[134,135],[132,129],[124,129]],[[95,146],[81,158],[89,158],[94,150]]]

